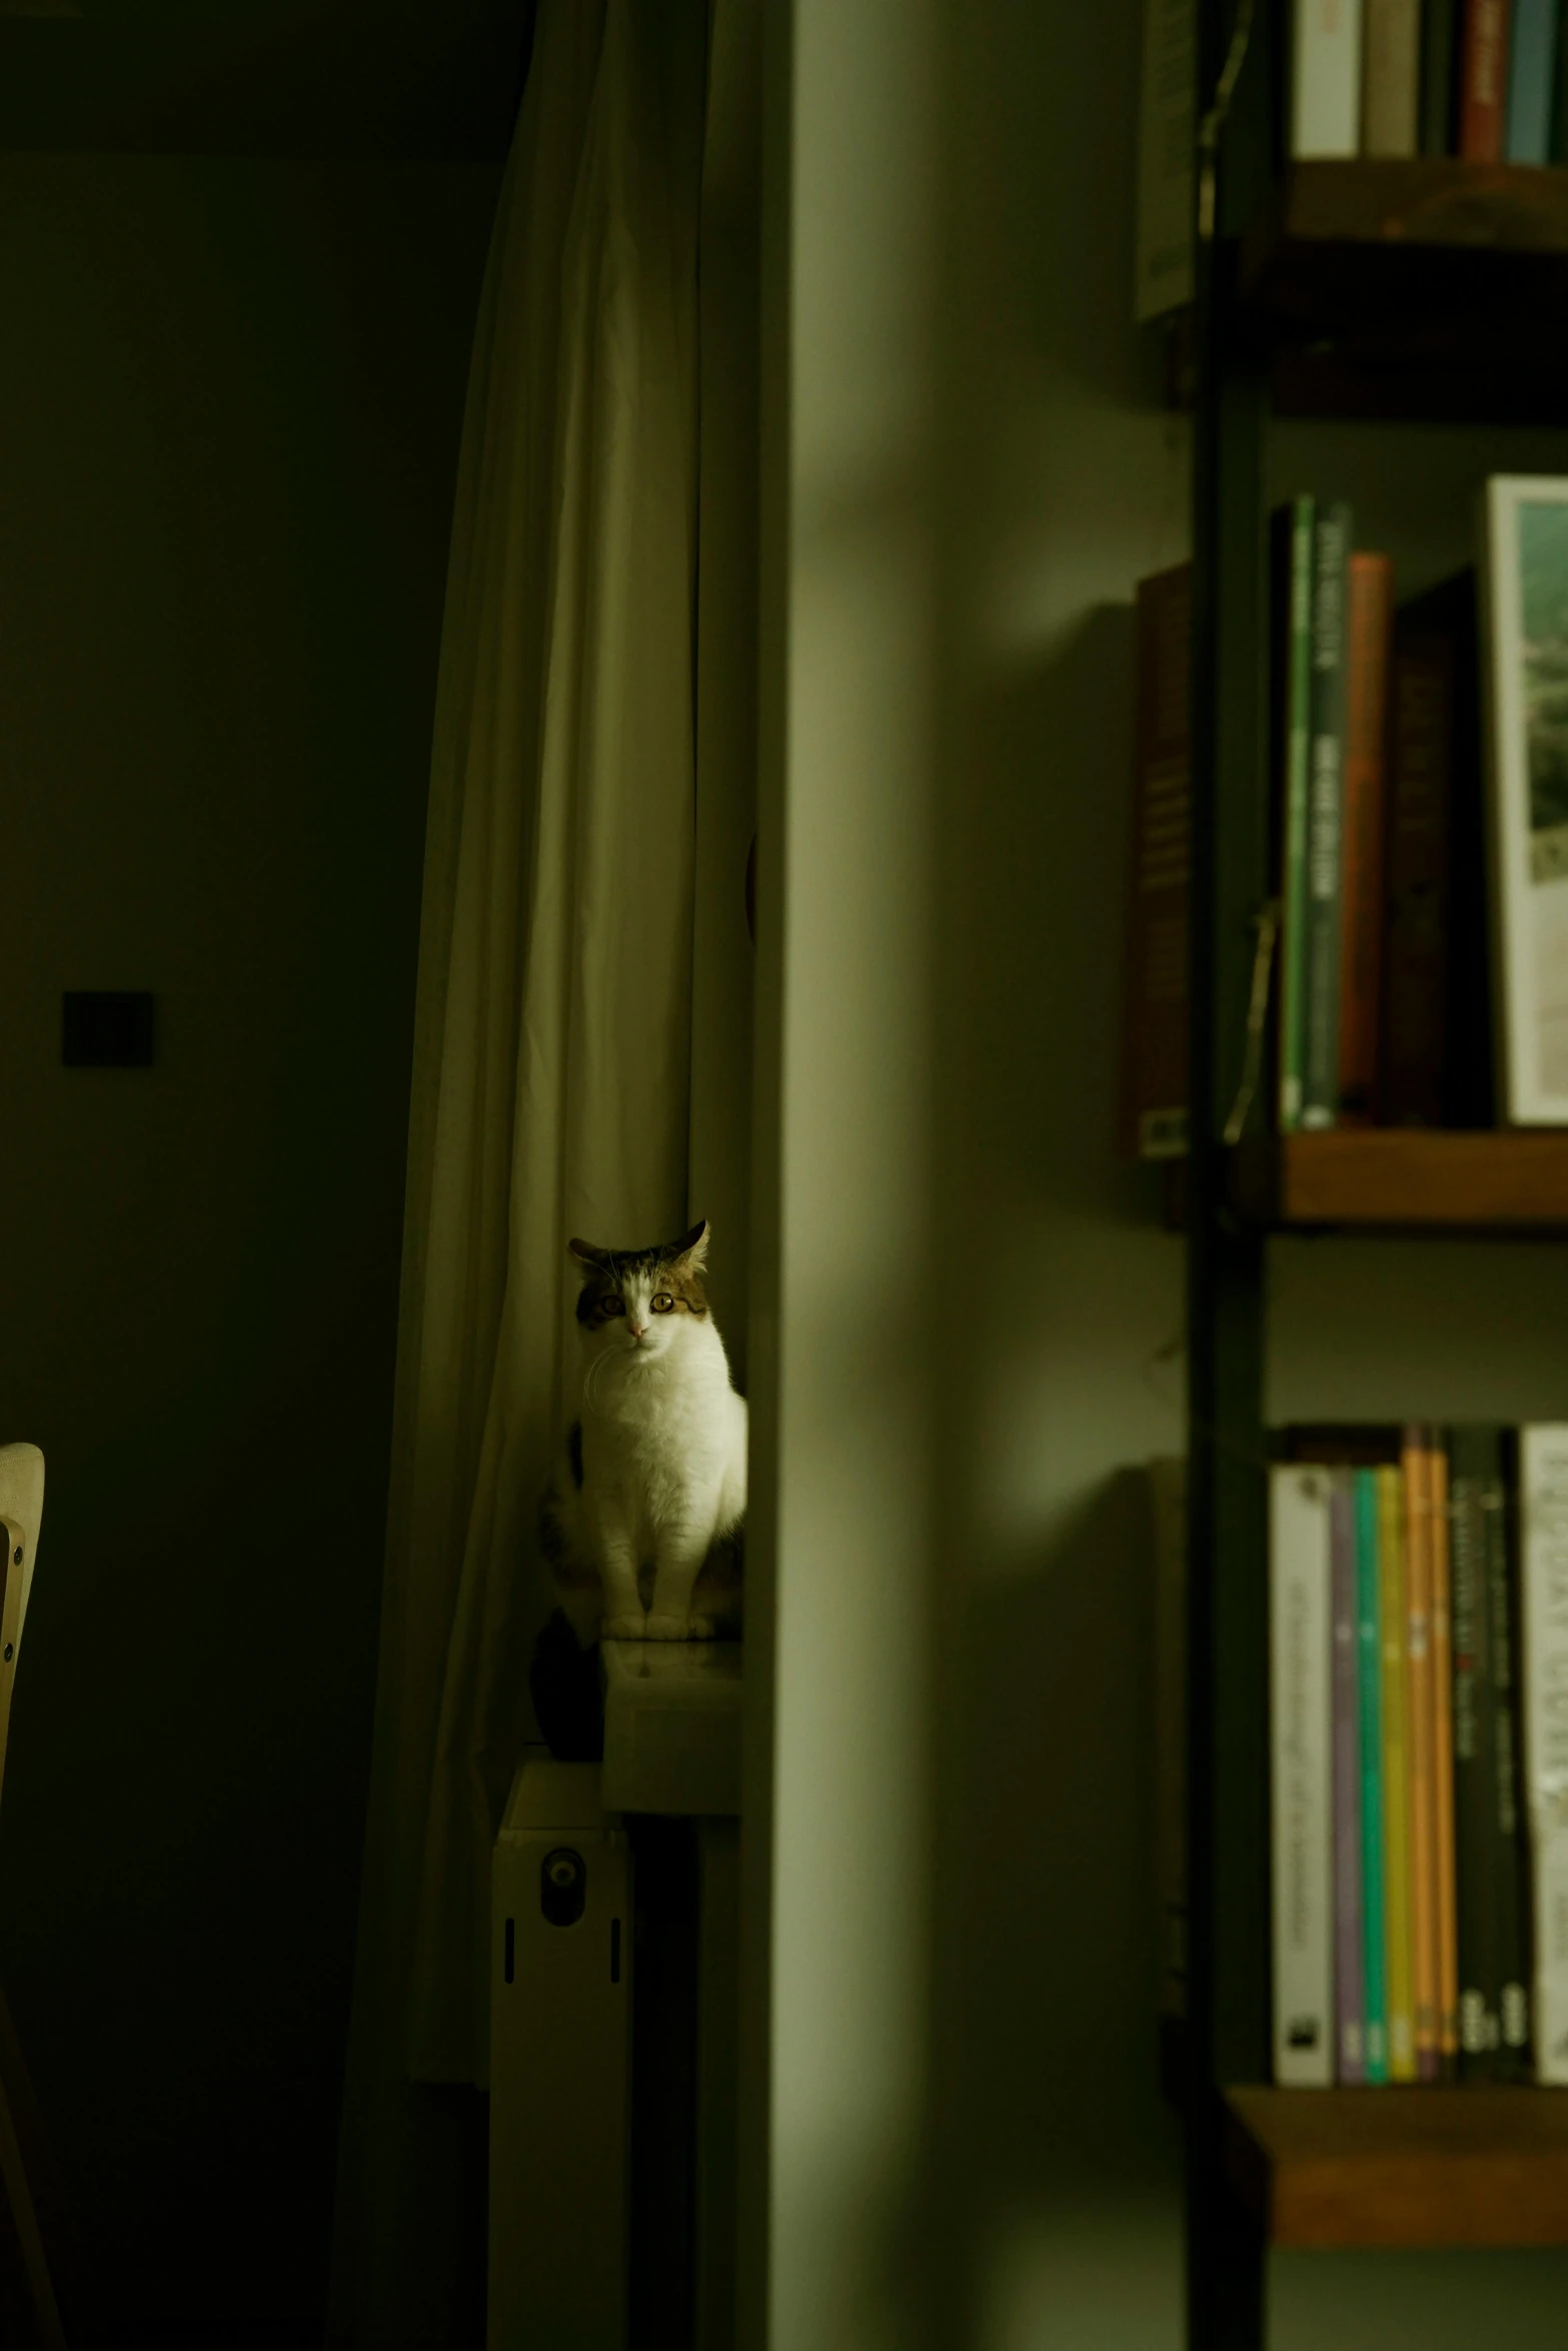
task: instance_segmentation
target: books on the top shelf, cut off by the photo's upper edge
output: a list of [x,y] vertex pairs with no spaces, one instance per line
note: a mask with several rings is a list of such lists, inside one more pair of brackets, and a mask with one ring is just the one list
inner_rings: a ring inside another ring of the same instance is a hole
[[1563,0],[1295,0],[1291,153],[1563,162]]

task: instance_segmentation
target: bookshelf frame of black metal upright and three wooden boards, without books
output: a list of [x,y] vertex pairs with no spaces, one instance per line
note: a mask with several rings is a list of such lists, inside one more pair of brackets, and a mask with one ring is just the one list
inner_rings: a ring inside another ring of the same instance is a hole
[[[1229,47],[1232,7],[1201,0],[1199,92],[1220,87]],[[1267,61],[1253,54],[1220,132],[1222,230],[1197,247],[1190,348],[1182,2104],[1192,2351],[1262,2351],[1269,2245],[1568,2243],[1568,2095],[1267,2088],[1262,1404],[1269,1234],[1568,1239],[1568,1131],[1276,1138],[1255,1100],[1241,1140],[1220,1140],[1246,1067],[1255,922],[1269,893],[1269,416],[1568,426],[1568,172],[1295,165],[1241,219],[1241,190],[1255,186],[1251,158],[1267,153]]]

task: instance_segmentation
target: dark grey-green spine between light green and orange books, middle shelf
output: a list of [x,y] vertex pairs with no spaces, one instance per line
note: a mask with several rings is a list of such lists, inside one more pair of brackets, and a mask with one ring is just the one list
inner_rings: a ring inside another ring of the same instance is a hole
[[1312,750],[1307,797],[1307,987],[1302,1126],[1340,1107],[1340,816],[1345,790],[1345,585],[1349,508],[1319,508],[1312,538]]

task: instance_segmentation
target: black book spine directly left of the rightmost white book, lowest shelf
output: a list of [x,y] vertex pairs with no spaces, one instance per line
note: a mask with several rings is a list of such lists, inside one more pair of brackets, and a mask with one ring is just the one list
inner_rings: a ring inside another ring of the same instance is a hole
[[1497,2074],[1523,2081],[1530,2069],[1530,1928],[1523,1787],[1519,1777],[1519,1516],[1516,1446],[1495,1432],[1481,1493],[1486,1545],[1486,1657],[1493,1733],[1493,1930],[1497,1947]]

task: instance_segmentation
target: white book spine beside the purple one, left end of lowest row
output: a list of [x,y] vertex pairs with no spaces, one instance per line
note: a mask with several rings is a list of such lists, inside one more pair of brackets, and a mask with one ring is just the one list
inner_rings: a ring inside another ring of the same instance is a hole
[[1326,1469],[1269,1469],[1274,2081],[1333,2081],[1333,1552]]

